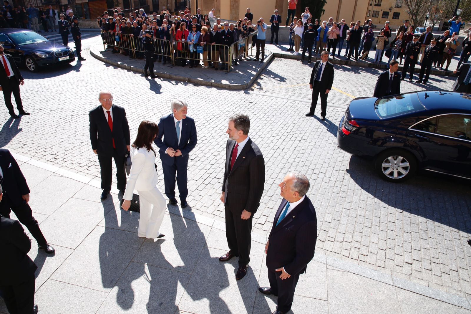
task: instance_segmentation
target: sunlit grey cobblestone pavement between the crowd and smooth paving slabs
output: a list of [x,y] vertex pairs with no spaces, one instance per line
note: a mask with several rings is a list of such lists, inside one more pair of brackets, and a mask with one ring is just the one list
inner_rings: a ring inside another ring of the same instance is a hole
[[[83,41],[87,61],[82,63],[37,74],[23,70],[24,106],[32,115],[13,121],[4,108],[0,146],[98,177],[88,132],[88,111],[99,104],[98,91],[111,90],[114,103],[126,107],[131,137],[142,120],[158,121],[170,113],[171,99],[186,99],[199,138],[190,154],[188,202],[194,212],[224,221],[219,195],[227,117],[243,112],[252,119],[250,136],[260,146],[267,170],[254,228],[268,231],[283,176],[304,172],[317,210],[319,252],[471,297],[471,249],[466,243],[471,231],[469,181],[427,173],[392,184],[374,174],[371,162],[337,148],[335,136],[344,109],[353,97],[372,95],[378,70],[335,66],[327,119],[321,121],[304,116],[310,103],[311,67],[299,61],[275,59],[251,89],[227,91],[146,80],[104,65],[87,51],[96,41],[98,36]],[[447,90],[453,79],[431,76],[430,83],[406,81],[402,91]]]

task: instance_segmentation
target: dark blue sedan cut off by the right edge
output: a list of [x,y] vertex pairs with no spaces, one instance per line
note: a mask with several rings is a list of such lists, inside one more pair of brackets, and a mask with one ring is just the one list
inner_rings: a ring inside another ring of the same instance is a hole
[[419,91],[353,99],[339,147],[373,157],[377,173],[401,182],[417,169],[471,179],[471,94]]

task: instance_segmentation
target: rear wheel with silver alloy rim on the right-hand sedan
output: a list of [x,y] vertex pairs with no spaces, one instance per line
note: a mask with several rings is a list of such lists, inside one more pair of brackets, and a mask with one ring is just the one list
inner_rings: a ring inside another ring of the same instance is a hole
[[380,176],[391,182],[400,182],[414,175],[416,161],[405,150],[393,149],[381,153],[376,158],[376,169]]

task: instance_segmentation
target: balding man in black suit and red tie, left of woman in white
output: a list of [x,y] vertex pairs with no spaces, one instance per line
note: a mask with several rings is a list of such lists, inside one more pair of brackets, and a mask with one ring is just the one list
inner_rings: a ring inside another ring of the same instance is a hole
[[101,105],[90,110],[90,141],[93,152],[98,155],[101,175],[101,199],[108,197],[111,190],[113,166],[116,164],[118,190],[126,189],[124,155],[130,151],[130,133],[126,111],[123,107],[113,105],[113,95],[109,91],[100,91],[98,100]]

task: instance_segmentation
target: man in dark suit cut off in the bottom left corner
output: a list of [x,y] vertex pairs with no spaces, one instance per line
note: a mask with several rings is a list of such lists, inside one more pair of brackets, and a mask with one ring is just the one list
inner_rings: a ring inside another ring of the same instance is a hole
[[[2,199],[0,185],[0,202]],[[31,240],[17,220],[0,215],[0,290],[9,313],[38,313],[34,304],[34,272],[38,268],[26,253]]]

